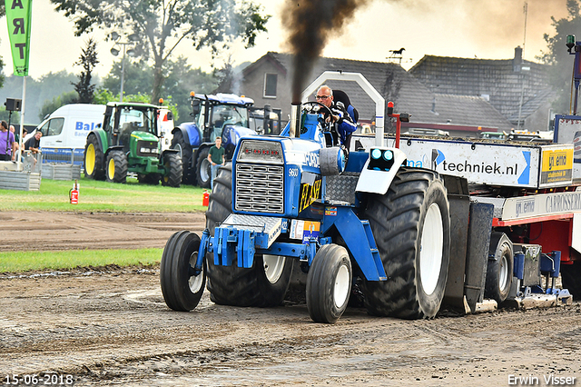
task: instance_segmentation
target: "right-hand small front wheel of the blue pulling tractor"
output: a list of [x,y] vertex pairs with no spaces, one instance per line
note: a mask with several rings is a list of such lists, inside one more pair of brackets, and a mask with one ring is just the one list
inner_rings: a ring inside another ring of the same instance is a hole
[[338,244],[325,244],[307,275],[307,309],[315,323],[335,323],[345,312],[351,292],[351,261]]

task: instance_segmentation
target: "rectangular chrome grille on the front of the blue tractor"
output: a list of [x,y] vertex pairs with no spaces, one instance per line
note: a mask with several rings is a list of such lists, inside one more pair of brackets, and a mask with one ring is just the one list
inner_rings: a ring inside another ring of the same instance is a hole
[[236,164],[236,211],[284,213],[284,167]]

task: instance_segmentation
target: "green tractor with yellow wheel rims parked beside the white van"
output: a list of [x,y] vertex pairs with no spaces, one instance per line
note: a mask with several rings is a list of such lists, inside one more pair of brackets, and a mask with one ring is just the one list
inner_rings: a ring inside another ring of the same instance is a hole
[[179,187],[182,158],[173,149],[162,150],[160,114],[167,108],[153,104],[109,103],[103,125],[87,135],[84,175],[89,179],[125,183],[128,173],[140,183]]

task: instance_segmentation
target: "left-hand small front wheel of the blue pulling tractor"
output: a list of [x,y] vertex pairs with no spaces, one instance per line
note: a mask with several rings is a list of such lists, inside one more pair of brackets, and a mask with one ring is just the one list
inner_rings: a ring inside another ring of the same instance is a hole
[[163,300],[174,311],[188,312],[200,303],[206,283],[206,269],[204,263],[202,273],[194,274],[199,250],[200,237],[188,231],[174,233],[165,243],[160,282]]

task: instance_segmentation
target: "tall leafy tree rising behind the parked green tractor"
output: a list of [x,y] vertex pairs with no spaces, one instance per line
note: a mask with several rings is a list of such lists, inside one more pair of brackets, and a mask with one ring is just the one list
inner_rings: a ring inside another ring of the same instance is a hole
[[[152,102],[163,92],[164,65],[173,50],[188,39],[196,50],[210,47],[220,55],[237,39],[254,45],[256,35],[266,31],[269,15],[250,1],[236,0],[51,0],[56,11],[74,20],[75,35],[94,27],[136,35],[134,51],[153,61]],[[171,39],[170,39],[171,38]],[[170,40],[168,40],[170,39]]]

